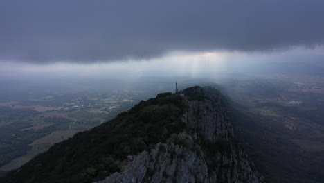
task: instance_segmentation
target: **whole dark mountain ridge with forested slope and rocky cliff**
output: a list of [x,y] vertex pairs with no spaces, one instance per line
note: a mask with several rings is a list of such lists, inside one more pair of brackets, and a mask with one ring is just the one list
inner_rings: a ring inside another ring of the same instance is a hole
[[211,87],[159,94],[37,155],[1,182],[262,182]]

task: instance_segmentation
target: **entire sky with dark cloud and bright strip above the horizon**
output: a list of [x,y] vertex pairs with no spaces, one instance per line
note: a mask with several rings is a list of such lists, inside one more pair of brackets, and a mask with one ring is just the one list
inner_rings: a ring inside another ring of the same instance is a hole
[[3,0],[0,77],[208,77],[316,66],[324,61],[323,9],[320,0]]

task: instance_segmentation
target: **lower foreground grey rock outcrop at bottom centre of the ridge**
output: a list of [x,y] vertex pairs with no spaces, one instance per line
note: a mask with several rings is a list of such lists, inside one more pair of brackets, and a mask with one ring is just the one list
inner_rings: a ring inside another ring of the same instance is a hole
[[208,167],[198,152],[203,153],[199,147],[191,151],[173,143],[158,143],[150,153],[144,151],[129,157],[121,173],[102,182],[203,182],[208,177]]

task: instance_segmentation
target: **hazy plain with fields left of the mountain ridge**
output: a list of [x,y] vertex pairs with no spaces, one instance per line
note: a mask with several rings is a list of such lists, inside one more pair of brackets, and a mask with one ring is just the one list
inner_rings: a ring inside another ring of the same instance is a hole
[[155,87],[123,89],[112,82],[92,83],[95,86],[51,82],[1,82],[1,172],[19,168],[54,143],[100,125],[156,94]]

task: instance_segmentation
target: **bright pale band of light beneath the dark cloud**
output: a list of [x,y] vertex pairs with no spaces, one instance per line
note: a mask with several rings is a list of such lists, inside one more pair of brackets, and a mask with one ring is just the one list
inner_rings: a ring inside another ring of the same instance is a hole
[[271,62],[294,62],[301,57],[311,59],[314,55],[324,55],[324,47],[314,49],[295,48],[281,53],[240,53],[240,52],[172,52],[161,58],[149,60],[120,60],[119,62],[96,62],[93,64],[73,64],[60,62],[53,64],[30,64],[25,62],[0,61],[1,78],[30,77],[104,77],[139,78],[145,76],[192,78],[213,78],[217,73],[247,72],[253,67],[259,69]]

